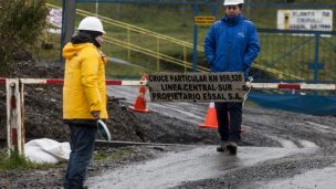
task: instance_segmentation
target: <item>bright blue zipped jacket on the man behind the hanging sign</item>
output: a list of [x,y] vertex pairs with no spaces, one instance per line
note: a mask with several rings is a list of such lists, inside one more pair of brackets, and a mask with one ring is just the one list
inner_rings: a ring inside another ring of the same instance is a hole
[[214,22],[204,40],[206,57],[212,72],[244,72],[260,52],[255,25],[241,14]]

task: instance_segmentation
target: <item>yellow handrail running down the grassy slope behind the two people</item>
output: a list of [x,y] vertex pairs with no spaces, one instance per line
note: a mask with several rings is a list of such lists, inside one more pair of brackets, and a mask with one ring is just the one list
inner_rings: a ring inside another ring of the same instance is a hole
[[[60,7],[51,4],[51,3],[46,3],[46,6],[49,6],[51,8],[60,9]],[[80,15],[83,15],[83,17],[96,15],[95,13],[92,13],[92,12],[88,12],[88,11],[85,11],[85,10],[81,10],[81,9],[76,9],[76,13],[80,14]],[[157,32],[144,29],[144,28],[139,28],[139,27],[136,27],[136,25],[133,25],[133,24],[129,24],[129,23],[117,21],[117,20],[107,18],[107,17],[103,17],[103,15],[97,15],[97,17],[103,22],[105,22],[107,24],[112,24],[114,27],[126,30],[126,32],[125,32],[126,35],[127,35],[125,38],[126,41],[122,41],[122,40],[118,40],[118,39],[115,39],[115,38],[111,38],[108,35],[105,35],[104,39],[106,39],[105,42],[107,42],[107,43],[111,43],[111,44],[117,45],[119,48],[126,49],[128,51],[128,55],[127,55],[128,61],[130,60],[130,52],[134,51],[134,52],[138,52],[138,53],[141,53],[141,54],[145,54],[145,55],[148,55],[148,56],[151,56],[151,57],[156,59],[157,60],[157,62],[156,62],[157,63],[157,69],[156,70],[158,72],[160,71],[160,65],[159,65],[160,60],[177,64],[179,66],[182,66],[182,67],[185,67],[185,72],[187,72],[187,69],[192,69],[192,63],[187,61],[187,50],[193,50],[193,44],[192,43],[187,42],[187,41],[182,41],[182,40],[178,40],[176,38],[171,38],[171,36],[168,36],[168,35],[164,35],[164,34],[160,34],[160,33],[157,33]],[[137,45],[137,44],[132,43],[130,32],[134,32],[134,33],[137,33],[137,34],[145,34],[145,35],[155,38],[154,41],[156,41],[156,44],[155,44],[156,50],[149,50],[149,49],[144,48],[141,45]],[[261,34],[262,34],[265,31],[261,29],[261,30],[259,30],[259,32],[261,32]],[[181,45],[182,59],[177,59],[177,57],[174,57],[174,56],[161,53],[160,48],[159,48],[160,40]],[[200,45],[197,46],[197,51],[199,53],[204,53],[204,49]],[[254,63],[252,66],[260,70],[260,71],[264,71],[266,73],[270,73],[274,77],[280,77],[280,78],[287,77],[287,78],[300,80],[300,81],[304,80],[304,77],[302,75],[295,75],[293,73],[288,73],[287,71],[286,72],[285,71],[280,71],[275,67],[270,67],[270,66],[263,65],[261,63]],[[206,67],[206,66],[199,66],[198,65],[197,71],[208,72],[209,69]]]

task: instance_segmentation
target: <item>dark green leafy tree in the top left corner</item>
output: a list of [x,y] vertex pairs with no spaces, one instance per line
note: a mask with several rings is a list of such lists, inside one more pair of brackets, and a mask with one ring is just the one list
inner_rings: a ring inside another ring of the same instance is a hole
[[0,75],[6,73],[17,52],[36,45],[46,25],[45,0],[0,0]]

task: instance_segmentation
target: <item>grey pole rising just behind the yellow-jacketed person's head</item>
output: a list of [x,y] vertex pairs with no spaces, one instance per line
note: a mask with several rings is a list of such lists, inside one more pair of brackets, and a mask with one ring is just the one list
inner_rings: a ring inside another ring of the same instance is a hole
[[63,46],[71,40],[75,31],[76,1],[63,0],[62,3],[62,33],[61,33],[61,52],[60,62],[64,62],[62,57]]

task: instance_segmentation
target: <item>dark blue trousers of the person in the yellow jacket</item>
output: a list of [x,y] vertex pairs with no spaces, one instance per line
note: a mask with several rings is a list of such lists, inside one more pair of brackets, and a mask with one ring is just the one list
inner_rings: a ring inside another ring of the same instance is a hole
[[80,189],[86,177],[94,151],[96,127],[69,124],[71,130],[71,154],[65,174],[64,188]]

